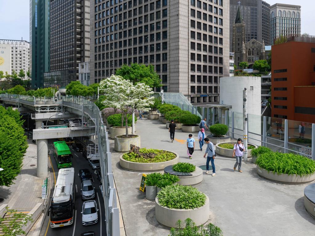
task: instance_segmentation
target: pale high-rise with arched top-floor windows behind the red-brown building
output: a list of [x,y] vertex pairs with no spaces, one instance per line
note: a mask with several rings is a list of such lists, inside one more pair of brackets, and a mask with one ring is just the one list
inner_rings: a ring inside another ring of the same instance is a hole
[[301,6],[276,3],[270,7],[270,40],[301,35]]

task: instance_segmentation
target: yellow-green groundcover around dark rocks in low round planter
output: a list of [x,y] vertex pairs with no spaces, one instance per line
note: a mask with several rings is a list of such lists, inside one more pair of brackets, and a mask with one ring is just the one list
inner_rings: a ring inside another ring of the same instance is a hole
[[174,153],[163,151],[160,149],[140,148],[139,151],[141,153],[155,153],[157,155],[154,158],[143,158],[143,157],[137,157],[137,155],[134,152],[131,152],[131,153],[128,152],[123,155],[123,159],[132,161],[132,162],[138,162],[138,163],[156,163],[156,162],[173,160],[176,157]]

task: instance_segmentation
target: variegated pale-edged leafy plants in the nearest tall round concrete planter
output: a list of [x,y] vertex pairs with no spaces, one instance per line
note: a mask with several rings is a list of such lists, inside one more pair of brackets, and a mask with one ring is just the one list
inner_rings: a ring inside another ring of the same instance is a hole
[[158,202],[171,209],[195,209],[206,202],[206,195],[197,188],[185,185],[169,185],[157,193]]

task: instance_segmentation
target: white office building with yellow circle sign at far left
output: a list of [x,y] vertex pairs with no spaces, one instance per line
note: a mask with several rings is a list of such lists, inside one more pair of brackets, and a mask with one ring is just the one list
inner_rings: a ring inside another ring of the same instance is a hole
[[12,74],[15,70],[19,74],[23,69],[24,80],[28,79],[26,72],[30,69],[30,43],[25,40],[0,39],[0,70]]

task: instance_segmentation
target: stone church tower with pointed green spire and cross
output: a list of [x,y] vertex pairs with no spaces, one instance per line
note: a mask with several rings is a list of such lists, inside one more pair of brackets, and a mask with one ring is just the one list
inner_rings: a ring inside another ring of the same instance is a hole
[[[235,65],[238,67],[238,63],[246,60],[246,54],[244,57],[244,44],[245,39],[245,23],[242,18],[240,6],[238,6],[235,22],[233,23],[233,52]],[[243,50],[242,50],[243,49]]]

